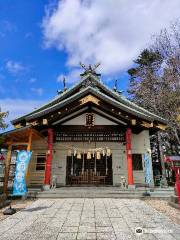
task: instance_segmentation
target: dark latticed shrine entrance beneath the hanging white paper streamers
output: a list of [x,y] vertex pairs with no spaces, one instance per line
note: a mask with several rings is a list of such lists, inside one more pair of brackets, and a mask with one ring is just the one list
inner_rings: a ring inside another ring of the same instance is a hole
[[68,156],[66,165],[67,185],[112,185],[112,155],[96,156],[81,154]]

